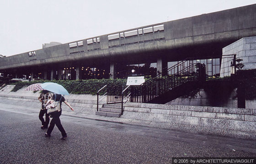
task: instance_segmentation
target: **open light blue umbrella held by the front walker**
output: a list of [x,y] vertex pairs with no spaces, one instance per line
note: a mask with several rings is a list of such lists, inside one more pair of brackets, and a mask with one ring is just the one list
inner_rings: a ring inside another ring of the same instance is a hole
[[41,87],[44,90],[48,90],[56,94],[69,95],[69,92],[62,85],[59,85],[55,82],[44,82],[41,84]]

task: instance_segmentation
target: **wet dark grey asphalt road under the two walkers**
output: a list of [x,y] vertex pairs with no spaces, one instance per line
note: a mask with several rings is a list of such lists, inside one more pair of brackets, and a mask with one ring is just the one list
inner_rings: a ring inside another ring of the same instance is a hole
[[0,164],[169,164],[172,157],[256,157],[255,141],[62,115],[43,136],[37,113],[0,110]]

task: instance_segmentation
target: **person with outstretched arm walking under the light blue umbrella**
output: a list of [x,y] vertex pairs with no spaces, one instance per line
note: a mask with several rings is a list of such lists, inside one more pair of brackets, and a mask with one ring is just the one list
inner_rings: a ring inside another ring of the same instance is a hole
[[[56,99],[55,99],[56,97]],[[62,124],[60,123],[60,115],[61,115],[61,112],[62,112],[62,108],[61,108],[61,104],[64,102],[67,106],[69,106],[69,108],[74,111],[74,109],[70,106],[70,104],[65,100],[65,98],[63,96],[61,96],[60,94],[54,94],[53,97],[52,97],[52,100],[51,100],[51,103],[53,103],[55,101],[59,101],[60,102],[60,111],[55,111],[53,113],[50,113],[50,115],[53,117],[52,120],[51,120],[51,123],[50,123],[50,126],[47,130],[47,133],[44,133],[44,135],[46,137],[50,137],[51,136],[51,133],[53,131],[53,128],[56,124],[57,128],[59,129],[59,131],[61,132],[62,134],[62,138],[60,139],[65,139],[67,138],[67,133],[65,132]]]

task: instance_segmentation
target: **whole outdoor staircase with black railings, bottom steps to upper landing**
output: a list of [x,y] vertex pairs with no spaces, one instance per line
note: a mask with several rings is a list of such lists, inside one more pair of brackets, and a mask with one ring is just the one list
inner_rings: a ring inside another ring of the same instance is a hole
[[[227,58],[235,63],[235,55]],[[139,86],[128,86],[124,89],[123,86],[105,85],[97,92],[96,115],[120,117],[126,102],[165,104],[202,87],[207,79],[206,65],[193,58],[180,61],[163,72]],[[103,104],[99,109],[99,92],[102,92],[103,88],[107,90],[104,94],[107,95],[107,104]]]

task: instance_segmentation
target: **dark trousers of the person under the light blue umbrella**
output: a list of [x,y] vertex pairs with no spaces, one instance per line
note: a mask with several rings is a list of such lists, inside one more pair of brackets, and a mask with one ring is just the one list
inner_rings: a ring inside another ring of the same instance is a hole
[[54,128],[54,125],[56,124],[57,128],[61,132],[62,137],[66,136],[67,133],[65,132],[62,124],[60,123],[60,119],[59,119],[59,116],[61,115],[61,111],[57,112],[57,113],[54,113],[54,114],[51,114],[51,115],[53,116],[53,118],[52,118],[50,126],[47,130],[47,134],[51,135],[51,133],[53,131],[53,128]]

